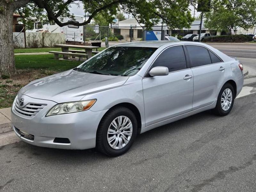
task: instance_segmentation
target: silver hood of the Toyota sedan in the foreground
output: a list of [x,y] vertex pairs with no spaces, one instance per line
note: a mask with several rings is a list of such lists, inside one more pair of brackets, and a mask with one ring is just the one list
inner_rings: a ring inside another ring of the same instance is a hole
[[128,78],[84,73],[71,69],[32,81],[23,87],[20,93],[57,103],[78,101],[87,94],[120,86]]

